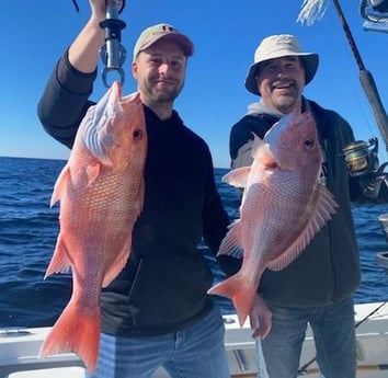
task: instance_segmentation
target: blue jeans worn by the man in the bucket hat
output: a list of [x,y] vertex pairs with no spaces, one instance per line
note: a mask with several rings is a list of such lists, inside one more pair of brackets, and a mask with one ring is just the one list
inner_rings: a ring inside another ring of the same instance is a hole
[[[324,378],[355,378],[356,342],[353,298],[322,306],[290,308],[267,303],[272,330],[258,345],[270,378],[296,378],[307,323],[317,348],[317,363]],[[260,377],[265,378],[265,377]]]

